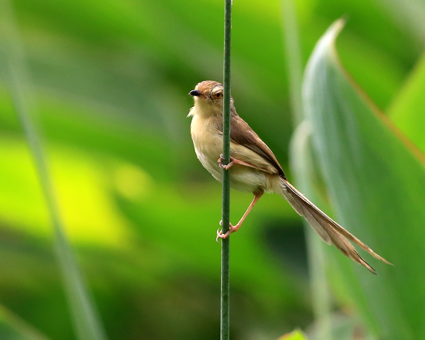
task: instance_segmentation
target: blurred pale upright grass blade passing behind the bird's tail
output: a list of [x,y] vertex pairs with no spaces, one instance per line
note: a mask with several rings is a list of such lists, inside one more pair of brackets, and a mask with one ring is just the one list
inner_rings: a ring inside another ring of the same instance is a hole
[[[285,51],[287,70],[289,74],[290,104],[292,109],[292,121],[297,127],[293,136],[289,151],[291,169],[296,177],[296,182],[310,200],[320,205],[319,197],[308,188],[312,188],[314,174],[312,172],[312,149],[309,148],[309,128],[303,121],[303,98],[302,98],[302,60],[300,52],[300,39],[297,28],[297,14],[293,0],[282,0],[283,36],[285,37]],[[314,187],[314,186],[313,186]],[[325,275],[325,254],[323,242],[314,230],[303,220],[306,233],[310,287],[314,318],[318,325],[318,339],[331,340],[331,303],[329,286]]]

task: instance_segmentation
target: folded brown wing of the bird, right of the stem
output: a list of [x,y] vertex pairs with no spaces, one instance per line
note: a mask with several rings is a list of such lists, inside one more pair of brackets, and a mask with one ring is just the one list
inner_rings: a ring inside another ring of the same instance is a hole
[[234,143],[243,145],[263,157],[276,168],[281,177],[286,179],[285,173],[283,172],[283,169],[272,150],[269,149],[266,143],[264,143],[254,130],[252,130],[251,127],[235,112],[232,112],[230,117],[230,139]]

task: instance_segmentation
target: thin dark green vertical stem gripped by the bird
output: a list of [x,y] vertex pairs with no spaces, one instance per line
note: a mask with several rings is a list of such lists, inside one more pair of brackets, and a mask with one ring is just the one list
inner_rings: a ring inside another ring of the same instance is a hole
[[[223,157],[224,164],[230,162],[230,38],[232,30],[232,0],[224,1],[224,71],[223,71]],[[221,208],[223,233],[230,223],[230,175],[223,169],[223,199]],[[221,241],[221,318],[220,339],[229,339],[229,242]]]

